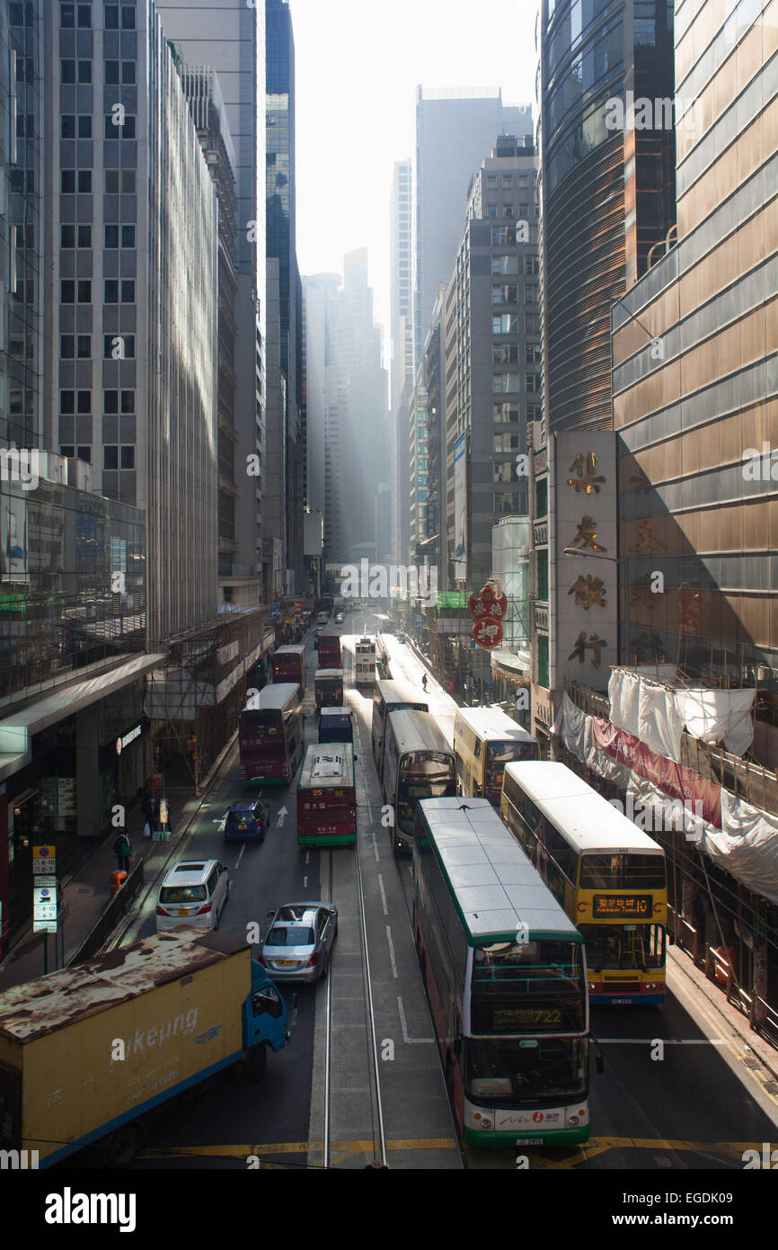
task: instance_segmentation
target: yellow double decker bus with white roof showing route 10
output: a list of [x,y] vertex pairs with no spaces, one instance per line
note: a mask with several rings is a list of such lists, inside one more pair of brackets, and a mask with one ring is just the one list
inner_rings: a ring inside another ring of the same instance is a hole
[[664,1002],[659,844],[551,761],[506,766],[501,815],[586,941],[589,1001]]

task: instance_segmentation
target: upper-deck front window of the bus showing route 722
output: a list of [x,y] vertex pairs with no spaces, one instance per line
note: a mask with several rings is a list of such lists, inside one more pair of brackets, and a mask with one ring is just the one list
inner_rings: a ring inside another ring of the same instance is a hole
[[584,1022],[578,942],[548,939],[476,946],[472,1032],[578,1032]]

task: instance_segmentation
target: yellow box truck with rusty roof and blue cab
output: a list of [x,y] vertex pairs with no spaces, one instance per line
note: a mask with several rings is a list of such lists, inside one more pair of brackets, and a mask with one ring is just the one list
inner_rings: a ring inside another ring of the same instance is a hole
[[0,994],[0,1151],[44,1168],[100,1141],[126,1166],[144,1112],[232,1064],[260,1080],[287,1041],[281,994],[221,932],[182,926],[49,972]]

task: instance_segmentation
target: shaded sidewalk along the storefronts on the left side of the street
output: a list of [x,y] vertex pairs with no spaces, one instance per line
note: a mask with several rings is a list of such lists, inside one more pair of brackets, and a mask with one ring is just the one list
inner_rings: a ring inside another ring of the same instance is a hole
[[[144,825],[146,822],[141,805],[129,814],[126,832],[132,846],[130,869],[134,869],[139,858],[144,861],[144,880],[147,884],[159,871],[171,849],[185,841],[192,821],[196,819],[211,784],[220,775],[221,768],[234,746],[230,739],[211,768],[211,771],[201,782],[202,795],[196,799],[192,794],[194,786],[186,789],[181,786],[167,788],[166,799],[171,810],[172,836],[166,842],[154,842],[144,838]],[[65,960],[75,955],[79,946],[101,916],[106,904],[111,898],[111,872],[116,869],[116,855],[112,851],[115,834],[109,834],[97,846],[94,854],[70,878],[60,881],[61,915],[60,931],[55,934],[32,932],[32,921],[22,929],[10,948],[5,961],[0,965],[0,994],[12,985],[21,985],[24,981],[35,980],[44,975],[44,939],[49,939],[49,971],[62,968],[61,949],[65,949]],[[56,941],[55,941],[56,939]],[[56,951],[55,951],[56,945]]]

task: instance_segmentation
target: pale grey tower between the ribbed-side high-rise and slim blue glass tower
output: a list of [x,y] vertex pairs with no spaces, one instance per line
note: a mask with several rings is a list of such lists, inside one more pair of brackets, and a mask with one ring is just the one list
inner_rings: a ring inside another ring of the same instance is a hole
[[165,35],[184,61],[214,69],[236,154],[237,266],[235,302],[234,565],[272,588],[272,552],[263,548],[266,411],[265,5],[236,0],[156,0]]

